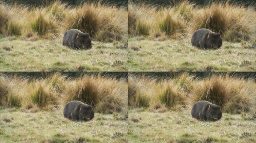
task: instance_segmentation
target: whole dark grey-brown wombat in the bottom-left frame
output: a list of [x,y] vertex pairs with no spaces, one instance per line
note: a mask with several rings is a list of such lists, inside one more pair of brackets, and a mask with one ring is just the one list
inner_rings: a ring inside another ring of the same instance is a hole
[[80,101],[70,101],[65,105],[64,117],[72,121],[89,121],[94,118],[94,111],[91,105]]

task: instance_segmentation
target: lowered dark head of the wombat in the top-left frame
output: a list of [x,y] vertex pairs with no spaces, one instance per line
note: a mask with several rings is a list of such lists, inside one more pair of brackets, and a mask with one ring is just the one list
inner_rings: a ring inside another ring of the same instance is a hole
[[76,36],[75,43],[77,48],[83,49],[91,49],[92,48],[92,41],[88,33],[78,32]]

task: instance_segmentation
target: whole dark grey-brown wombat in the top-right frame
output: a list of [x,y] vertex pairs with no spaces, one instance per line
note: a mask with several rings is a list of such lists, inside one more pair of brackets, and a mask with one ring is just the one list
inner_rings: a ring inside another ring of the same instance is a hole
[[191,43],[200,49],[218,49],[222,45],[220,33],[214,33],[209,29],[199,29],[194,32]]

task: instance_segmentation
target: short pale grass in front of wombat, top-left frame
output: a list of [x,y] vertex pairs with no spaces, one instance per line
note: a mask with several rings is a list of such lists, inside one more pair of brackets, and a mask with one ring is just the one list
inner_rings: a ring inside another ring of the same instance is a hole
[[92,43],[91,50],[71,50],[62,39],[0,37],[0,71],[127,71],[124,44]]

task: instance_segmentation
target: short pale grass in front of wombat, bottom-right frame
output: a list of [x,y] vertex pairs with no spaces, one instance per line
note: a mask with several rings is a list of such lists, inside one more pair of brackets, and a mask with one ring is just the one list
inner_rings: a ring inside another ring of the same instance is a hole
[[155,113],[138,108],[128,111],[129,142],[150,143],[255,143],[255,120],[224,113],[217,122],[202,122],[191,111]]

